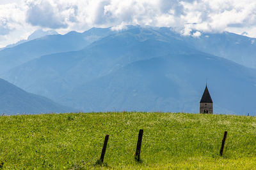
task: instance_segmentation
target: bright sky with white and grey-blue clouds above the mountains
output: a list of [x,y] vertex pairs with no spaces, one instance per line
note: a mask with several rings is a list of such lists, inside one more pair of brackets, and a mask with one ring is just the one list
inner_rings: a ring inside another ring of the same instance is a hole
[[230,31],[256,37],[255,0],[0,0],[0,47],[37,29],[86,31],[125,25],[173,27],[189,36]]

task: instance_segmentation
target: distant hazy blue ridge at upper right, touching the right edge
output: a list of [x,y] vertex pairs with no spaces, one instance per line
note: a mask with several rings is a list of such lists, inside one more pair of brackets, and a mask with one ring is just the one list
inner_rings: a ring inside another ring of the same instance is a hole
[[223,32],[185,38],[197,50],[224,57],[246,67],[256,68],[256,39]]

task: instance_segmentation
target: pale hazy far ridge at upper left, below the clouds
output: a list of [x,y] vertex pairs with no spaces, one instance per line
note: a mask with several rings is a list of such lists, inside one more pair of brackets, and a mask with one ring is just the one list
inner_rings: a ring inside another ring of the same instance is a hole
[[[12,48],[5,48],[0,51],[0,74],[8,73],[13,67],[20,66],[42,55],[81,50],[84,46],[107,36],[111,32],[113,31],[109,29],[97,28],[83,33],[72,31],[65,35],[44,36]],[[33,38],[33,34],[31,36]]]

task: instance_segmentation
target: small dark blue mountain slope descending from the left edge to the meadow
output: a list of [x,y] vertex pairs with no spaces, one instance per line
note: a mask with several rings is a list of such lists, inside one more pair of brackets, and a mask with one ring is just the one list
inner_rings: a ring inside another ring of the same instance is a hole
[[30,94],[0,78],[0,114],[65,113],[76,111],[46,97]]

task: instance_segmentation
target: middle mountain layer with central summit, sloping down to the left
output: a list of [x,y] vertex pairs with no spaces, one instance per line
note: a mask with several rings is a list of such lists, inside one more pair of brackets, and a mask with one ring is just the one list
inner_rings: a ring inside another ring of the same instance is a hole
[[136,27],[102,38],[78,52],[42,56],[15,67],[4,78],[29,92],[56,100],[79,85],[134,61],[195,51],[179,39]]

